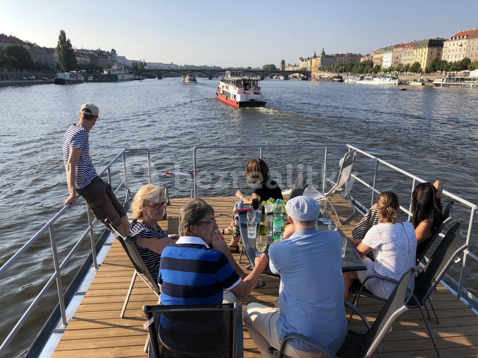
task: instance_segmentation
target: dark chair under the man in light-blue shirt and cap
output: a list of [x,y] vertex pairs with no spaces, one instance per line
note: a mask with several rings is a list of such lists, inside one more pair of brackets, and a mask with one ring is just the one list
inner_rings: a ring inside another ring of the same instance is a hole
[[362,321],[367,326],[368,331],[365,333],[356,333],[348,330],[348,334],[345,337],[344,343],[336,354],[313,339],[293,333],[286,336],[282,340],[278,358],[282,358],[282,354],[294,357],[293,351],[291,351],[288,343],[288,341],[291,339],[303,341],[308,345],[315,347],[319,352],[322,352],[322,358],[369,358],[375,351],[377,351],[378,356],[381,358],[381,354],[378,349],[380,342],[389,332],[395,319],[402,315],[402,313],[408,311],[406,304],[411,295],[409,295],[408,299],[405,299],[405,295],[407,291],[410,291],[408,290],[408,282],[414,271],[415,269],[410,269],[402,276],[402,279],[393,290],[387,303],[382,307],[377,319],[375,319],[375,322],[373,322],[373,325],[371,326],[367,318],[356,306],[352,305],[348,301],[344,301],[345,305],[347,305],[360,316]]

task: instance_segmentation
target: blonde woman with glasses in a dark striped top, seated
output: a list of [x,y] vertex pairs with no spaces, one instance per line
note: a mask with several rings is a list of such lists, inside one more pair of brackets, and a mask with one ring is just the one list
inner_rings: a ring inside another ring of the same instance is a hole
[[[179,239],[179,235],[168,235],[158,224],[163,220],[164,208],[167,203],[164,201],[164,191],[157,185],[143,185],[134,196],[131,210],[134,220],[131,222],[128,239],[133,242],[141,257],[150,270],[152,277],[156,280],[159,274],[161,253],[164,248]],[[214,248],[224,253],[240,278],[247,274],[242,271],[239,264],[234,260],[224,237],[219,231],[215,232],[215,240],[211,244]]]

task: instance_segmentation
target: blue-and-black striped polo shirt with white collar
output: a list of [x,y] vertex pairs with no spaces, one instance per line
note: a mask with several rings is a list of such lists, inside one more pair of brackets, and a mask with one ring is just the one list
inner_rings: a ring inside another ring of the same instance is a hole
[[181,236],[162,253],[158,284],[162,305],[217,305],[223,290],[241,282],[228,258],[199,237]]

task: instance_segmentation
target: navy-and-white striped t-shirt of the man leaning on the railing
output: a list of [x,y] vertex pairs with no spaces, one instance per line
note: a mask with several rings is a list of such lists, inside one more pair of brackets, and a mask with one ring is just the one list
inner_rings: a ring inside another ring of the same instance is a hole
[[81,155],[76,164],[76,189],[85,188],[97,176],[96,169],[89,158],[88,131],[84,126],[71,125],[63,136],[63,161],[68,165],[70,148],[80,148]]

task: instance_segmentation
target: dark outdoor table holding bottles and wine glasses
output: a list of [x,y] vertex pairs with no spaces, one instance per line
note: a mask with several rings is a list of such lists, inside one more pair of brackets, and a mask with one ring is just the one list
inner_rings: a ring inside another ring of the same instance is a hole
[[[250,204],[245,204],[242,203],[240,204],[239,209],[246,209],[249,208]],[[260,221],[260,212],[256,211],[256,222]],[[255,263],[254,263],[254,258],[256,257],[256,239],[250,239],[247,236],[247,224],[244,222],[247,222],[247,216],[246,213],[241,213],[239,214],[239,232],[240,236],[242,238],[242,246],[243,246],[243,251],[246,253],[246,256],[249,260],[249,263],[252,268],[254,268]],[[259,226],[259,225],[258,225]],[[257,229],[256,229],[257,230]],[[322,221],[317,221],[317,230],[318,231],[326,231],[328,230],[328,225],[322,223]],[[344,233],[340,231],[340,229],[337,229],[337,232],[341,237],[345,237]],[[257,237],[257,234],[256,234]],[[264,253],[267,255],[267,258],[269,259],[269,245],[274,241],[273,236],[268,237],[267,241],[267,248],[264,251]],[[242,252],[241,252],[242,255]],[[352,243],[347,240],[347,249],[345,251],[345,256],[342,257],[342,272],[349,272],[349,271],[362,271],[366,270],[367,267],[363,263],[362,259],[360,258],[359,254],[357,253],[357,250],[353,247]],[[272,274],[271,271],[269,270],[269,265],[267,265],[266,270],[264,270],[265,274]],[[277,276],[277,275],[275,275]]]

